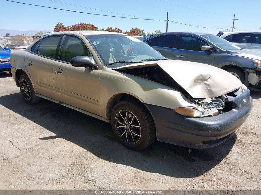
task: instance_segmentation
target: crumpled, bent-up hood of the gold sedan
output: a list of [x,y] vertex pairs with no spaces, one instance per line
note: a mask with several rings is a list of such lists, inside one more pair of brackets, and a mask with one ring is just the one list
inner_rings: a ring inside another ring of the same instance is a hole
[[157,65],[179,83],[192,98],[214,98],[241,87],[241,81],[229,72],[196,62],[160,60],[130,65],[113,64],[108,67],[117,70]]

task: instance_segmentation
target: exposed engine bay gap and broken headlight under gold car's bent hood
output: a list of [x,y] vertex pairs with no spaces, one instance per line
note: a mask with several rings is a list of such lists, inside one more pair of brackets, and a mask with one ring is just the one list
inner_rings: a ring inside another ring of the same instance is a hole
[[148,79],[180,91],[182,95],[196,105],[194,108],[191,108],[194,109],[193,112],[196,113],[196,116],[194,117],[217,116],[230,111],[232,109],[232,103],[228,101],[228,98],[235,97],[238,93],[240,93],[240,90],[238,89],[216,98],[192,98],[192,96],[189,95],[183,87],[181,87],[159,66],[140,67],[135,69],[118,69],[117,71],[135,75],[143,79]]

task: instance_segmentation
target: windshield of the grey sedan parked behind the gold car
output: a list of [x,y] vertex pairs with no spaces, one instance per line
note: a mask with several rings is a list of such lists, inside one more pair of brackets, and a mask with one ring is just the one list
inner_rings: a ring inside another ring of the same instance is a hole
[[234,44],[230,43],[229,41],[218,37],[217,35],[201,35],[205,39],[208,39],[211,43],[216,45],[217,47],[224,49],[224,50],[230,50],[230,49],[240,49],[240,47],[235,46]]

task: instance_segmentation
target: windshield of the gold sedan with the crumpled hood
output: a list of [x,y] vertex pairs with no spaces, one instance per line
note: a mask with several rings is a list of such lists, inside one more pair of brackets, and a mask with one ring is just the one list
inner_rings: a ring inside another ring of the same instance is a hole
[[166,59],[146,43],[129,35],[89,35],[86,37],[94,46],[104,65]]

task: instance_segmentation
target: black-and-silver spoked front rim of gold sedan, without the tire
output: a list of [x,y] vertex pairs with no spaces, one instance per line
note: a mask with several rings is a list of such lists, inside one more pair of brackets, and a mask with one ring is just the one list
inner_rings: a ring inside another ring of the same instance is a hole
[[141,138],[141,125],[137,117],[128,110],[120,110],[115,116],[115,127],[122,140],[136,144]]

